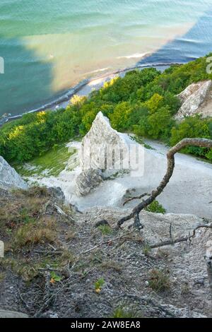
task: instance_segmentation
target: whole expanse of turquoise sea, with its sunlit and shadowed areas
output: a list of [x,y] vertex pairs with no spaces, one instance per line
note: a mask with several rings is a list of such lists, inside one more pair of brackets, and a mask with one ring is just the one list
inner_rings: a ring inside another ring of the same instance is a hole
[[212,0],[1,0],[0,115],[84,78],[212,51]]

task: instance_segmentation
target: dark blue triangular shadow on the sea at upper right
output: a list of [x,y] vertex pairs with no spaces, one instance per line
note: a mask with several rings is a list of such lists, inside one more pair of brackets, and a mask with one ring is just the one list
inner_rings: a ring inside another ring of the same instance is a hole
[[177,37],[158,49],[151,56],[138,62],[141,64],[184,63],[204,57],[212,51],[212,11],[204,13],[195,25],[183,36]]

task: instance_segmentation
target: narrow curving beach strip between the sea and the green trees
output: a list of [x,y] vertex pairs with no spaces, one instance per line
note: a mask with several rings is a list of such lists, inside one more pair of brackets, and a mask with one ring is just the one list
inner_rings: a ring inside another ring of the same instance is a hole
[[128,71],[134,70],[134,69],[145,69],[145,68],[160,68],[162,70],[165,70],[166,68],[172,66],[172,65],[180,65],[182,62],[175,62],[175,63],[158,63],[158,64],[141,64],[136,66],[127,67],[126,69],[118,69],[117,71],[113,71],[112,73],[105,73],[101,76],[96,76],[93,78],[87,78],[83,81],[79,82],[77,85],[73,86],[73,88],[70,88],[65,93],[63,93],[60,97],[58,97],[56,100],[52,100],[52,102],[48,102],[45,105],[42,105],[41,107],[38,107],[37,109],[32,109],[28,112],[24,112],[22,114],[11,116],[10,114],[3,114],[0,117],[0,127],[6,124],[8,121],[13,121],[16,119],[20,119],[25,114],[29,113],[35,113],[35,112],[41,112],[45,111],[47,109],[49,110],[56,110],[59,108],[65,108],[69,104],[69,100],[73,95],[76,95],[78,93],[79,95],[85,95],[88,96],[93,89],[99,90],[102,88],[105,82],[110,81],[115,76],[123,77],[125,73]]

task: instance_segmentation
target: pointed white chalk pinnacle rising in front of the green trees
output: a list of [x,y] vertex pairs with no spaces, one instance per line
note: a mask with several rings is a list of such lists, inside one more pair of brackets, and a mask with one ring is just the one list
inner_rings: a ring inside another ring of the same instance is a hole
[[[129,169],[129,142],[124,134],[112,129],[110,121],[99,112],[83,138],[80,162],[82,173],[76,179],[76,194],[86,195],[104,178]],[[126,159],[125,159],[126,158]]]

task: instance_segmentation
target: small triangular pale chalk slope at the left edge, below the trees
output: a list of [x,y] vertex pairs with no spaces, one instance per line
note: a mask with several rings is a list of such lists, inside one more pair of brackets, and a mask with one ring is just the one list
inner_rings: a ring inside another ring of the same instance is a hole
[[28,185],[21,179],[16,170],[8,165],[3,157],[0,157],[0,188],[5,190],[28,188]]

